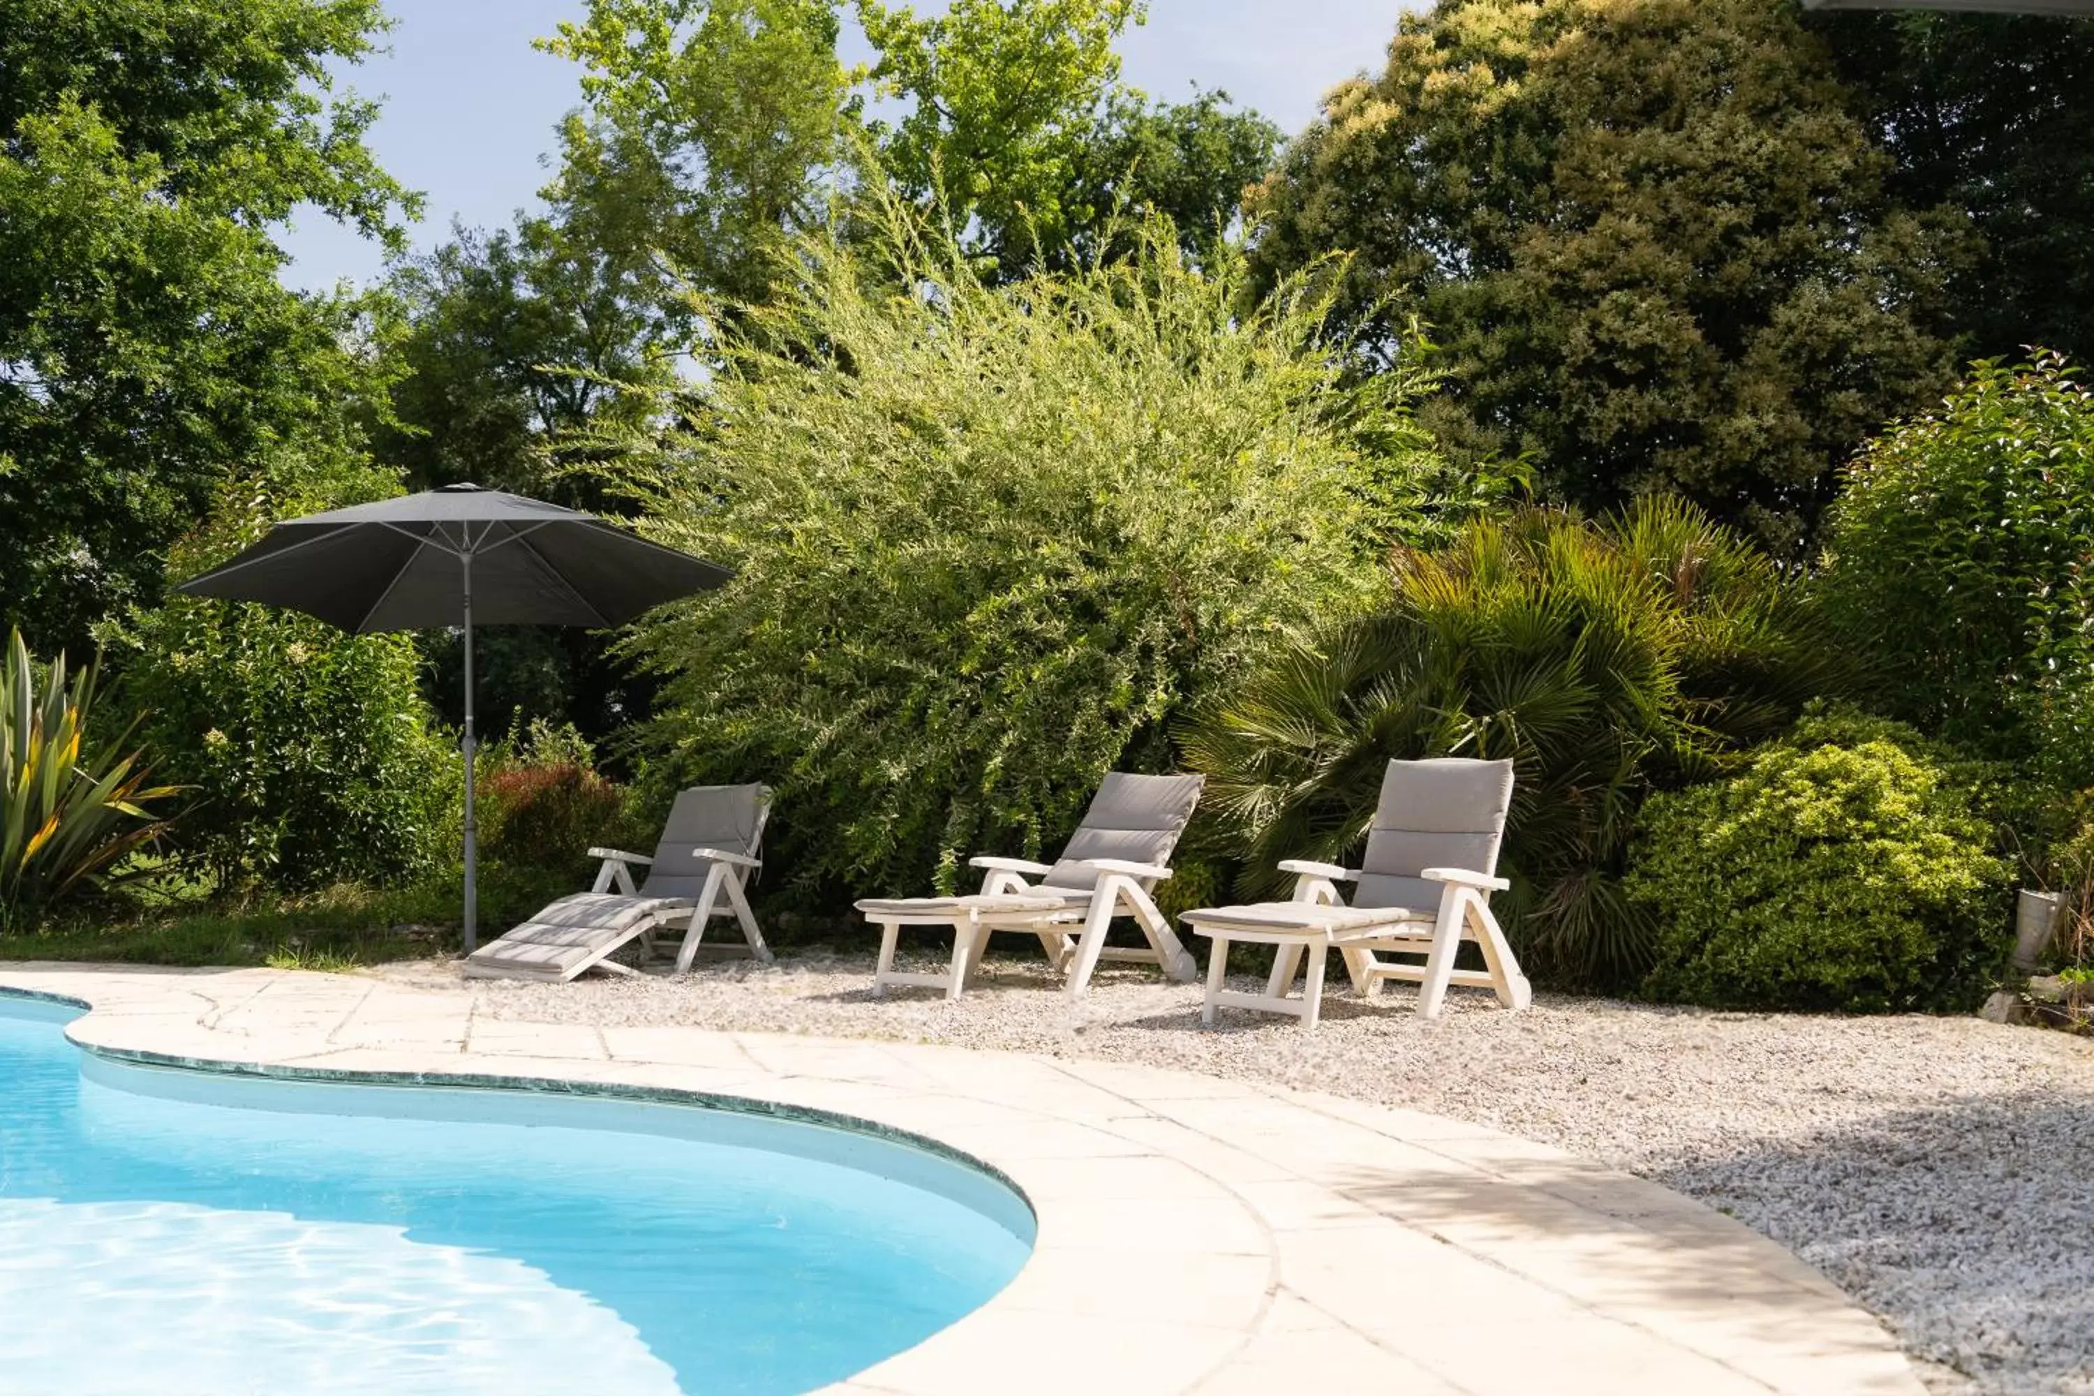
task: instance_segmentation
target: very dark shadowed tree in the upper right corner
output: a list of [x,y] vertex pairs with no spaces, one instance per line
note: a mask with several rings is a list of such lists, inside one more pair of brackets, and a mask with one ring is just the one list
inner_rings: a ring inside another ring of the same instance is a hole
[[1985,241],[1950,314],[1977,356],[2094,360],[2094,19],[1820,13],[1807,25],[1895,165],[1906,207],[1962,209]]

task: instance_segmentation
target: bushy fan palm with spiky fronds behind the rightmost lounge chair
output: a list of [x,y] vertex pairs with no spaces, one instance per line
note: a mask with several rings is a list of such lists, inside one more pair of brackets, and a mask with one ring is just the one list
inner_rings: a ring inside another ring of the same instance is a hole
[[1520,956],[1621,986],[1650,963],[1619,890],[1646,793],[1721,770],[1843,672],[1776,567],[1690,504],[1529,509],[1399,555],[1382,611],[1263,666],[1185,749],[1246,894],[1277,890],[1279,858],[1357,856],[1390,758],[1512,758]]

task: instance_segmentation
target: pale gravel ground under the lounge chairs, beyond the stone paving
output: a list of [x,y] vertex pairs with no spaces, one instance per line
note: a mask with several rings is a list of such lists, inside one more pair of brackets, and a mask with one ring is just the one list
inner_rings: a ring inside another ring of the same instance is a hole
[[[932,967],[926,963],[926,967]],[[942,967],[942,965],[940,965]],[[701,965],[687,980],[463,984],[498,1019],[687,1023],[1087,1055],[1407,1105],[1654,1178],[1774,1237],[1885,1316],[1939,1392],[2094,1394],[2094,1040],[1962,1017],[1707,1013],[1543,994],[1501,1013],[1401,990],[1290,1019],[1104,967],[1070,1005],[1041,963],[984,965],[957,1005],[873,1000],[871,956]],[[1250,988],[1250,982],[1244,982]],[[1374,1063],[1376,1069],[1361,1069]]]

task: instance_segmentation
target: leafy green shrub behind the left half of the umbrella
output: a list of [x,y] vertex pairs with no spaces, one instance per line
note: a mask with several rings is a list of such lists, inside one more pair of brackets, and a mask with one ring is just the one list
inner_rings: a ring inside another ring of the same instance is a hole
[[[168,571],[203,571],[272,519],[387,488],[379,471],[276,460],[226,494]],[[124,695],[147,714],[161,774],[197,787],[178,846],[222,887],[389,883],[452,856],[459,756],[421,699],[408,636],[350,636],[295,611],[170,594],[119,640],[130,649]]]

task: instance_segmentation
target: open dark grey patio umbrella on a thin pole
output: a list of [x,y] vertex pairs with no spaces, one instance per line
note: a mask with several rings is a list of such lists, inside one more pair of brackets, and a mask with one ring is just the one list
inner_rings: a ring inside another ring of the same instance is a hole
[[603,519],[480,486],[444,486],[287,519],[176,590],[262,601],[352,634],[465,626],[465,950],[477,946],[473,626],[624,626],[708,590],[725,567]]

